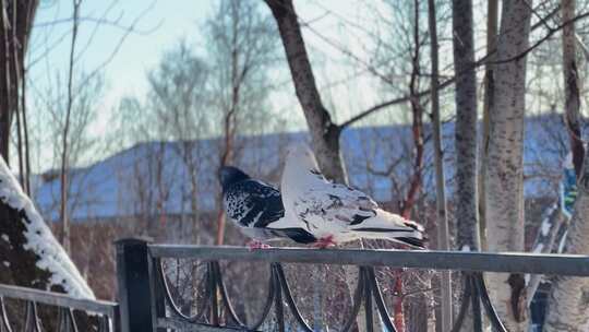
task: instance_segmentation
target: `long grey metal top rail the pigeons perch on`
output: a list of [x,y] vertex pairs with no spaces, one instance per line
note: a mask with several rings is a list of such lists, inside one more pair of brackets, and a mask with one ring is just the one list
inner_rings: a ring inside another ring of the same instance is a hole
[[148,245],[153,257],[207,261],[387,265],[395,268],[589,276],[589,256],[385,249],[271,248]]

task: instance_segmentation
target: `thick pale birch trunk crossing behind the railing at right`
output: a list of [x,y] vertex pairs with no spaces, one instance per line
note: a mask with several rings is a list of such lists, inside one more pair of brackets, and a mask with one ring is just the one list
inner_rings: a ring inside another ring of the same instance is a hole
[[[531,1],[505,1],[497,40],[495,94],[489,111],[485,174],[490,251],[524,251],[524,115]],[[490,273],[489,293],[512,332],[527,329],[522,274]]]

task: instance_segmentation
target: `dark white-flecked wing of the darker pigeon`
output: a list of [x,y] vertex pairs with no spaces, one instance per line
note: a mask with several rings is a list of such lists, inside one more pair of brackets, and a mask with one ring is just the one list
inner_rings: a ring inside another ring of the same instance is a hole
[[262,181],[245,180],[224,194],[225,211],[242,227],[266,227],[285,215],[280,192]]

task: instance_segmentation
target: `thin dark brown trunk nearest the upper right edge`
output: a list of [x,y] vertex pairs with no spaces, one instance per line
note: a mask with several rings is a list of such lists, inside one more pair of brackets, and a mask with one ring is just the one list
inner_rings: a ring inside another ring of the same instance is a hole
[[[561,1],[563,21],[567,22],[575,17],[575,0]],[[580,95],[579,95],[579,73],[576,57],[575,23],[563,27],[563,74],[565,86],[565,112],[566,126],[570,140],[570,151],[573,152],[573,165],[577,179],[580,177],[585,149],[581,141],[580,129]]]

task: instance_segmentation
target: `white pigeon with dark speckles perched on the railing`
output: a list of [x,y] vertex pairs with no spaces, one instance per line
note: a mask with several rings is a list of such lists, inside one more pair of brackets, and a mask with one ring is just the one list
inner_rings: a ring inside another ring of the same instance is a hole
[[280,190],[285,220],[302,221],[306,230],[317,238],[316,247],[377,238],[424,248],[421,225],[384,211],[362,191],[328,181],[304,144],[289,150]]

